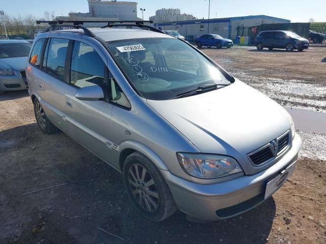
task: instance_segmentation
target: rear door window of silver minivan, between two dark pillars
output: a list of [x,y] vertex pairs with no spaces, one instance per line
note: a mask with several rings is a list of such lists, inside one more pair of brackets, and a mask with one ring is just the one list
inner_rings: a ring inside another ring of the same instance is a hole
[[46,59],[43,62],[43,69],[61,80],[65,78],[68,43],[68,39],[51,38],[48,47],[46,47],[47,52],[44,54]]

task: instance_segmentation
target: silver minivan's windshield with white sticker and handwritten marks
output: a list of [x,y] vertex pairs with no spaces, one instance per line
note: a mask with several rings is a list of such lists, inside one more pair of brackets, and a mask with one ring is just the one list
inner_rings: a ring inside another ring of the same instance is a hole
[[108,42],[107,47],[147,99],[173,99],[199,86],[229,84],[217,66],[178,39],[129,39]]

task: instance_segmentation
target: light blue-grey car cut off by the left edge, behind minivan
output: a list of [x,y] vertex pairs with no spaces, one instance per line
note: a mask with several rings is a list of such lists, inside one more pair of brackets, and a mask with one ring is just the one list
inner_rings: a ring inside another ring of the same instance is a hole
[[0,94],[27,89],[25,66],[31,44],[20,40],[0,40]]

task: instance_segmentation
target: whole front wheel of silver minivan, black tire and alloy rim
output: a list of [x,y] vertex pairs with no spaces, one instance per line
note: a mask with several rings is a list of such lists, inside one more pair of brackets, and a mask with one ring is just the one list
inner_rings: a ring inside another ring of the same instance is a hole
[[132,205],[150,221],[162,221],[177,210],[167,182],[155,165],[138,152],[123,165],[123,182]]

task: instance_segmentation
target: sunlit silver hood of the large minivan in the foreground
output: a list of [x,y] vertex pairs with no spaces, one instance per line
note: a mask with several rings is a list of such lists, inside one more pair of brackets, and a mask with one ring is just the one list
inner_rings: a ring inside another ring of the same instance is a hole
[[248,174],[255,172],[245,170],[247,154],[290,129],[284,108],[239,80],[196,96],[147,103],[202,153],[233,156]]

